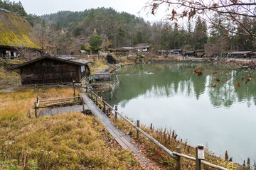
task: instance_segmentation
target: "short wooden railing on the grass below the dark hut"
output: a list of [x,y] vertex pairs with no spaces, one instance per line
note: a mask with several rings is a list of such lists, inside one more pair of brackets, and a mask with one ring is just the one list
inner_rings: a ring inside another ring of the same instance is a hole
[[[78,98],[78,100],[76,100]],[[55,103],[53,103],[55,102]],[[42,104],[43,103],[43,104]],[[40,105],[42,104],[42,105]],[[71,106],[75,104],[82,105],[82,112],[85,113],[85,103],[83,102],[83,98],[80,96],[70,97],[70,98],[58,98],[48,101],[40,101],[39,97],[36,98],[36,102],[34,103],[35,116],[38,118],[38,111],[40,108],[53,108],[60,106]]]

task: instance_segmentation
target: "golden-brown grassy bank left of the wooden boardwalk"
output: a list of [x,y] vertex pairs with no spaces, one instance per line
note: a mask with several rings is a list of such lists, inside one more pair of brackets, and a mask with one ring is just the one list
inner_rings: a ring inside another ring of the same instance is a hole
[[73,96],[73,89],[19,89],[0,94],[1,169],[139,169],[130,152],[91,115],[28,118],[36,96]]

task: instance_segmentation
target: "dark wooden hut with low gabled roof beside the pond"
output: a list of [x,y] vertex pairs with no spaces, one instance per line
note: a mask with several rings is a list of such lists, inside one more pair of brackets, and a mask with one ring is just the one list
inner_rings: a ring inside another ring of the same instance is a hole
[[11,69],[20,69],[22,85],[68,84],[80,83],[89,77],[88,63],[90,61],[76,57],[44,55]]

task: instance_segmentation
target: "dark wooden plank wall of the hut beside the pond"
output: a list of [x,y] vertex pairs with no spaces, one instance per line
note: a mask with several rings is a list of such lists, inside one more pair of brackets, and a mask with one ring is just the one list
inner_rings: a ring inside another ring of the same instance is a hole
[[81,65],[78,64],[45,58],[21,67],[21,84],[80,82],[88,73],[87,65],[84,70],[81,72]]

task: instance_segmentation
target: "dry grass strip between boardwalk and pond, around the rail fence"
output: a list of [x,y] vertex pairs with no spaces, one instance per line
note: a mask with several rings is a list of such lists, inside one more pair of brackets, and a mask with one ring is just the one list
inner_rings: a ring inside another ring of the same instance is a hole
[[[112,117],[111,119],[114,122],[114,118]],[[144,135],[140,134],[139,139],[137,139],[136,129],[133,128],[132,125],[129,125],[129,123],[127,123],[123,119],[118,119],[115,125],[124,130],[124,132],[132,132],[132,139],[140,146],[140,149],[142,149],[142,152],[146,154],[146,157],[149,157],[151,160],[154,160],[154,162],[158,162],[162,166],[165,166],[166,169],[175,169],[176,160],[169,157],[166,152],[164,152],[161,148],[157,147],[149,139],[144,137]],[[187,154],[191,157],[196,157],[195,148],[187,145],[186,140],[178,139],[178,135],[176,135],[175,130],[167,130],[163,128],[154,129],[154,127],[151,130],[150,127],[146,127],[144,125],[141,125],[140,128],[144,130],[144,132],[151,135],[151,137],[154,137],[154,139],[159,141],[162,145],[164,145],[171,151],[176,151],[176,147],[181,147],[181,152],[183,154]],[[206,151],[207,150],[208,149],[206,147]],[[228,162],[223,158],[216,157],[210,152],[206,152],[205,157],[206,162],[223,166],[228,169],[245,169],[238,164],[234,164],[233,162]],[[191,160],[181,158],[181,169],[196,169],[196,163]],[[203,169],[213,168],[210,168],[209,166],[203,166]]]

